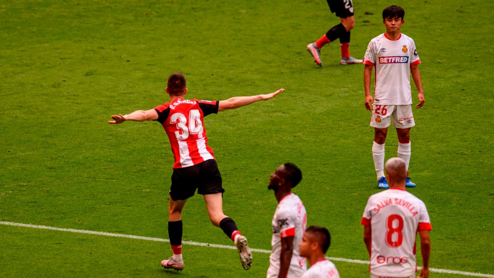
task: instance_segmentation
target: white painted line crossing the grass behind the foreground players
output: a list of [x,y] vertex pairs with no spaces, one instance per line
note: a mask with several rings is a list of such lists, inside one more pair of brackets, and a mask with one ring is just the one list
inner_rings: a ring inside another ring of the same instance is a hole
[[[130,234],[122,234],[122,233],[95,232],[95,231],[87,231],[87,230],[64,229],[64,228],[56,228],[56,227],[49,227],[49,226],[14,223],[14,222],[3,222],[3,221],[0,221],[0,224],[1,225],[8,225],[8,226],[18,226],[18,227],[26,227],[26,228],[62,231],[62,232],[78,232],[78,233],[97,234],[97,235],[106,235],[106,236],[115,236],[115,237],[125,237],[125,238],[142,239],[142,240],[150,240],[150,241],[170,242],[169,239],[165,239],[165,238],[130,235]],[[204,243],[204,242],[195,242],[195,241],[182,241],[182,244],[215,247],[215,248],[224,248],[224,249],[233,249],[233,250],[237,249],[237,247],[231,246],[231,245],[213,244],[213,243]],[[267,254],[271,253],[270,250],[266,250],[266,249],[251,248],[250,250],[252,252],[258,252],[258,253],[267,253]],[[334,257],[327,257],[327,258],[331,261],[339,261],[339,262],[354,263],[354,264],[364,264],[364,265],[369,264],[369,261],[352,260],[352,259],[345,259],[345,258],[334,258]],[[418,269],[420,269],[420,267],[418,267]],[[449,270],[449,269],[429,268],[429,271],[430,272],[436,272],[436,273],[447,273],[447,274],[457,274],[457,275],[464,275],[464,276],[494,278],[494,275],[491,275],[491,274],[473,273],[473,272],[465,272],[465,271],[457,271],[457,270]]]

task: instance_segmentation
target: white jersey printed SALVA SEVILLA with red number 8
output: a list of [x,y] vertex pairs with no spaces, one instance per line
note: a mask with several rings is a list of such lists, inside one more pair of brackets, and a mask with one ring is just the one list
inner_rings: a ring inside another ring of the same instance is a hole
[[369,197],[362,225],[371,226],[371,267],[375,276],[410,277],[416,272],[415,237],[432,230],[424,202],[403,189]]

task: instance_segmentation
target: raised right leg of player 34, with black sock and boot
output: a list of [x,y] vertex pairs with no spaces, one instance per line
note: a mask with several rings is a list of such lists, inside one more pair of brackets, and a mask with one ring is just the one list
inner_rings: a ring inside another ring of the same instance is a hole
[[252,253],[248,247],[247,238],[239,232],[235,221],[223,214],[222,197],[222,193],[204,195],[209,220],[214,226],[221,228],[235,242],[242,266],[245,270],[248,270],[252,265]]

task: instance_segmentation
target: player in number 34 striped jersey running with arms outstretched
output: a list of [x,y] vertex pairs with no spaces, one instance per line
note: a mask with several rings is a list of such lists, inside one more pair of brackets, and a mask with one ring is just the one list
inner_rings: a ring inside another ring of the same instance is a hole
[[207,213],[211,223],[220,227],[237,246],[244,269],[252,264],[252,255],[235,222],[223,214],[221,175],[213,156],[212,149],[207,145],[206,129],[203,118],[211,113],[227,109],[235,109],[258,100],[267,100],[285,91],[280,89],[274,93],[252,96],[232,97],[222,101],[184,99],[187,93],[185,77],[181,73],[173,73],[168,78],[166,93],[169,102],[150,110],[137,110],[128,115],[113,115],[110,124],[121,124],[125,121],[158,121],[163,125],[171,151],[175,158],[171,176],[170,198],[168,206],[168,234],[173,256],[162,261],[165,269],[182,270],[182,209],[189,197],[197,190],[204,195]]

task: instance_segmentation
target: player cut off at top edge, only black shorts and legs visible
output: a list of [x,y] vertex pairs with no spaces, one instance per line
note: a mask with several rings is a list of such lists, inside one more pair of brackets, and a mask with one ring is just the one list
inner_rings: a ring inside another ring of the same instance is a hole
[[352,0],[327,0],[331,13],[336,13],[336,16],[340,18],[341,23],[333,26],[329,29],[321,39],[315,43],[307,46],[307,51],[314,58],[314,62],[319,66],[323,66],[321,62],[321,48],[330,42],[339,38],[341,48],[341,65],[360,64],[362,60],[355,59],[350,56],[348,47],[350,46],[350,30],[355,26],[355,19],[353,16],[353,4]]

